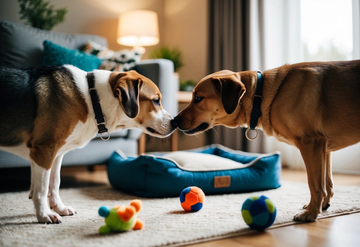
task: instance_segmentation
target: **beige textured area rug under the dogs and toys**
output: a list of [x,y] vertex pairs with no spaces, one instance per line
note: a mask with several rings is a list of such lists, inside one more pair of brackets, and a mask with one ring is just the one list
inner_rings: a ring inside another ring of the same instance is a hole
[[[253,231],[243,221],[240,208],[246,198],[261,194],[272,199],[277,208],[271,228],[296,224],[294,214],[310,199],[304,183],[283,183],[278,189],[264,192],[206,196],[204,207],[195,213],[183,211],[179,198],[142,198],[143,210],[138,214],[145,223],[142,230],[99,235],[104,218],[98,215],[98,208],[128,204],[135,197],[107,185],[61,189],[63,202],[78,214],[63,217],[61,224],[44,225],[36,223],[27,192],[4,193],[0,194],[0,246],[182,246],[232,237]],[[330,208],[319,219],[357,211],[360,187],[338,186]]]

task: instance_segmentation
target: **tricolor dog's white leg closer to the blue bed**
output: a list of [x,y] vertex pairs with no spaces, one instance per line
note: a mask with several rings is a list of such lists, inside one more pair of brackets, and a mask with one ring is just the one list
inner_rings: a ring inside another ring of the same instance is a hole
[[59,187],[60,187],[60,167],[63,160],[63,155],[59,154],[51,167],[50,173],[50,183],[49,183],[49,205],[50,208],[57,212],[61,216],[65,215],[75,215],[75,210],[70,206],[65,206],[59,196]]

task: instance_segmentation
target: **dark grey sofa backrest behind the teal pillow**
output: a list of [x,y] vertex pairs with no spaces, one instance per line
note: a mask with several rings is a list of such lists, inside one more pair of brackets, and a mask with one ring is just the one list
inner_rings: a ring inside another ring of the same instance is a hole
[[44,40],[81,50],[87,40],[107,46],[105,37],[67,34],[4,21],[0,23],[0,66],[22,68],[41,65]]

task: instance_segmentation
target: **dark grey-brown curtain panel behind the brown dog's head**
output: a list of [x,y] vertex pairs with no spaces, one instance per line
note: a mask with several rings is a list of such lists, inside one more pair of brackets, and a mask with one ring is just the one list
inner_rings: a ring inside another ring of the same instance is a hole
[[[258,2],[258,12],[262,11],[262,0]],[[209,0],[209,59],[208,73],[222,69],[234,72],[249,69],[250,45],[250,1],[249,0]],[[261,26],[261,14],[259,25]],[[259,31],[258,35],[261,35]],[[262,133],[251,143],[245,138],[245,130],[240,127],[230,129],[215,126],[209,131],[209,142],[247,152],[262,152]]]

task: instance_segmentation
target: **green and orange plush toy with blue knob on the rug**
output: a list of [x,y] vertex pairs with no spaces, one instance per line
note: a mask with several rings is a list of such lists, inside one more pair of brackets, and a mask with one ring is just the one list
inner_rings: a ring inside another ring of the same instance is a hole
[[136,217],[136,214],[141,210],[141,206],[139,199],[132,200],[129,206],[117,206],[111,209],[101,206],[99,215],[105,217],[105,225],[99,228],[99,233],[107,234],[124,232],[130,229],[142,229],[144,223]]

